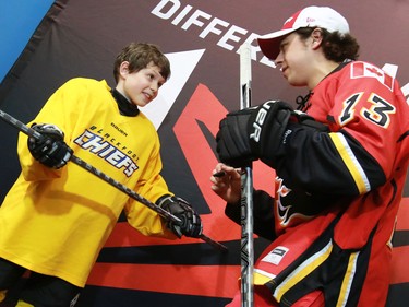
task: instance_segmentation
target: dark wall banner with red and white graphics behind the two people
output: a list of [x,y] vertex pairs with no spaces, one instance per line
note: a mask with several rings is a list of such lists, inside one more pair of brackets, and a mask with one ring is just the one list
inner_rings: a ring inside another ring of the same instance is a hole
[[[228,247],[222,253],[200,239],[145,237],[121,215],[101,250],[77,306],[225,306],[240,278],[241,228],[225,216],[210,190],[217,164],[215,135],[221,118],[240,108],[239,47],[252,44],[253,104],[282,99],[296,106],[305,88],[290,87],[264,57],[256,37],[280,28],[284,19],[311,1],[60,0],[56,1],[0,86],[0,108],[23,122],[75,76],[106,80],[113,87],[113,60],[130,42],[154,43],[171,62],[171,78],[142,111],[161,142],[163,176],[175,194],[201,214],[204,233]],[[314,4],[327,5],[327,1]],[[409,5],[333,1],[348,17],[361,58],[396,76],[409,102],[406,37]],[[373,16],[387,20],[374,23]],[[407,25],[407,26],[405,26]],[[393,35],[388,35],[393,33]],[[0,199],[20,173],[17,131],[0,122]],[[272,192],[275,173],[254,164],[254,188]],[[84,176],[87,176],[84,173]],[[97,180],[97,179],[91,179]],[[409,184],[409,182],[408,182]],[[409,299],[409,186],[394,236],[394,272],[387,306]],[[255,257],[268,244],[255,237]],[[284,252],[284,251],[282,251]],[[277,261],[277,255],[275,256]],[[400,304],[400,305],[399,305]]]

